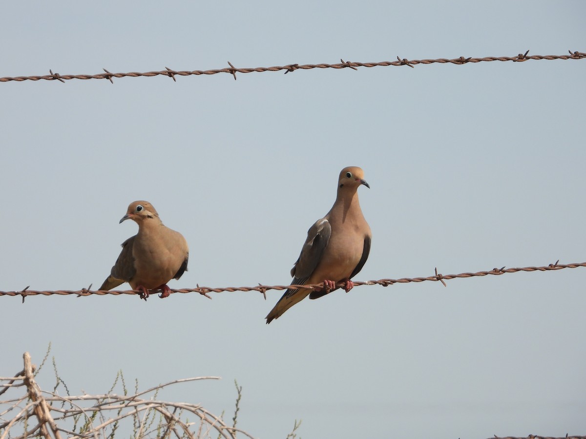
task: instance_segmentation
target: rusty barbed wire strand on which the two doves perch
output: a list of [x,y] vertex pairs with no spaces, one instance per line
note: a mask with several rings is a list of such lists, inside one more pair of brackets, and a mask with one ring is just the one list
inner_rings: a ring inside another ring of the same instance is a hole
[[[380,279],[380,280],[366,280],[364,282],[355,281],[354,286],[361,286],[361,285],[381,285],[383,287],[387,287],[389,285],[393,285],[396,283],[410,283],[410,282],[425,282],[427,280],[433,282],[441,282],[444,286],[447,286],[445,281],[456,279],[456,277],[461,278],[468,278],[468,277],[478,277],[478,276],[500,276],[504,275],[505,273],[517,273],[517,272],[545,272],[551,270],[562,270],[564,268],[577,268],[577,267],[586,267],[586,262],[580,263],[570,263],[570,264],[560,264],[558,263],[560,260],[557,260],[556,263],[552,263],[550,265],[541,266],[541,267],[523,267],[523,268],[493,268],[492,270],[476,272],[476,273],[459,273],[458,275],[442,275],[438,273],[437,267],[435,268],[435,275],[427,276],[427,277],[401,277],[401,279]],[[345,286],[344,282],[336,283],[336,287],[342,288]],[[171,293],[199,293],[203,296],[206,296],[208,299],[212,299],[207,293],[223,293],[223,292],[230,292],[233,293],[234,291],[258,291],[263,294],[264,298],[267,299],[266,292],[268,290],[288,290],[288,289],[312,289],[312,288],[323,288],[322,283],[316,284],[306,284],[306,285],[263,285],[258,284],[256,287],[223,287],[223,288],[211,288],[211,287],[200,287],[197,284],[196,288],[181,288],[181,289],[171,289]],[[154,290],[150,290],[154,291]],[[114,294],[114,296],[118,296],[120,294],[139,294],[141,291],[139,290],[91,290],[91,285],[88,288],[82,288],[81,290],[73,291],[73,290],[55,290],[55,291],[38,291],[38,290],[29,290],[29,287],[21,291],[0,291],[0,296],[21,296],[22,302],[24,303],[25,297],[27,296],[50,296],[52,294],[60,294],[60,295],[68,295],[68,294],[76,294],[77,297],[81,296],[105,296],[105,294]]]

